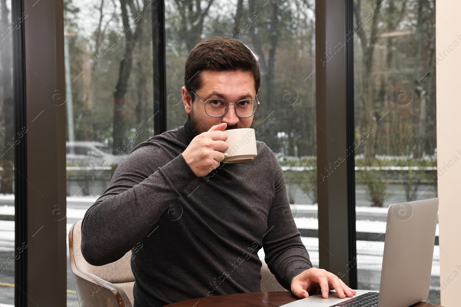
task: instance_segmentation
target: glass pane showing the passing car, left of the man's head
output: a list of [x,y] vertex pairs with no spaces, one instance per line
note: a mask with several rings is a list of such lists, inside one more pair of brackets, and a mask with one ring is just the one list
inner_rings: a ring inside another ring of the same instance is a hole
[[[67,230],[154,135],[152,6],[65,0]],[[134,35],[137,33],[137,35]],[[67,306],[79,305],[67,259]]]

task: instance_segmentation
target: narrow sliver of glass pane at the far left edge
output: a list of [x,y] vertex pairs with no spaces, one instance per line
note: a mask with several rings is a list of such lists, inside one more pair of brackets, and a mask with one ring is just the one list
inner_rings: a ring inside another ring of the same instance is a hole
[[[12,20],[11,1],[0,4],[0,305],[14,304],[15,260],[23,249],[14,247],[14,151],[24,136],[13,125],[12,32],[22,26]],[[19,246],[21,244],[19,243]],[[20,248],[20,247],[19,247]]]

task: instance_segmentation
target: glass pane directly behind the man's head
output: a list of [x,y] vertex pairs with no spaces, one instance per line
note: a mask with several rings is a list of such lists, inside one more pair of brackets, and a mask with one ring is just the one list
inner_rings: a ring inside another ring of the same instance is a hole
[[284,170],[292,215],[318,266],[315,8],[302,0],[207,0],[198,4],[165,1],[167,127],[182,126],[187,118],[181,101],[184,64],[198,42],[223,35],[249,46],[262,75],[261,104],[253,124],[256,139],[272,149]]

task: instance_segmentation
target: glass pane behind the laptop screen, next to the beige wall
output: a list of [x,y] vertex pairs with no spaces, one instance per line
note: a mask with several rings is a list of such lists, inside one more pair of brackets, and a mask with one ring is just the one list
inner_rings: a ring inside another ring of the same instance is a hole
[[[434,0],[355,0],[348,39],[355,44],[359,289],[379,290],[388,206],[437,197],[434,10]],[[435,245],[431,303],[440,303],[439,279]]]

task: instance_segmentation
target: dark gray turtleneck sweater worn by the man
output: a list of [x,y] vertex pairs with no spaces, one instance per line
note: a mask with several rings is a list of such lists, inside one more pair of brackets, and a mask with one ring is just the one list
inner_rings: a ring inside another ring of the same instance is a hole
[[288,203],[282,169],[257,141],[250,162],[197,177],[182,152],[195,137],[184,126],[137,145],[82,223],[92,265],[132,249],[135,307],[261,290],[261,261],[287,290],[312,267]]

